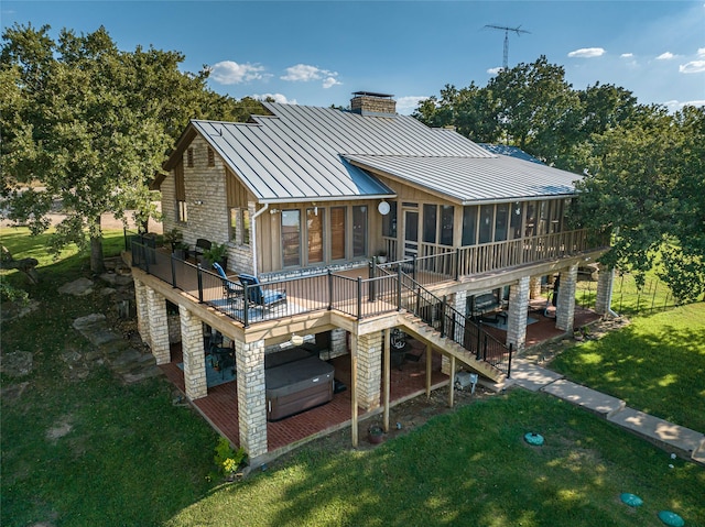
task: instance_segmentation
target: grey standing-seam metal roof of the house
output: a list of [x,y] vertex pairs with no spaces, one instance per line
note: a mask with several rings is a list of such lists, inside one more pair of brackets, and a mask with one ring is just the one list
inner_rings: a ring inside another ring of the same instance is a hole
[[573,194],[579,177],[494,154],[409,116],[264,107],[273,116],[249,123],[191,121],[164,167],[198,133],[262,204],[394,197],[370,171],[463,204]]

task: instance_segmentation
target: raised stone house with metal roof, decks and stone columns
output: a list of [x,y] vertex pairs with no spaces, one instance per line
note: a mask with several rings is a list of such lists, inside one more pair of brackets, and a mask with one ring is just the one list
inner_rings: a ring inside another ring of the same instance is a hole
[[[577,268],[605,250],[566,220],[581,176],[430,129],[383,94],[355,92],[350,110],[264,107],[247,123],[191,121],[154,184],[165,231],[227,244],[228,278],[132,245],[140,332],[169,362],[166,305],[177,307],[188,398],[208,395],[204,327],[234,343],[251,459],[268,452],[265,355],[303,336],[349,358],[357,444],[359,408],[383,407],[389,426],[393,331],[441,354],[451,380],[459,369],[501,380],[524,347],[530,297],[555,274],[555,323],[572,330]],[[599,274],[598,311],[611,279]],[[284,301],[252,301],[254,287]],[[476,323],[490,314],[506,340]]]

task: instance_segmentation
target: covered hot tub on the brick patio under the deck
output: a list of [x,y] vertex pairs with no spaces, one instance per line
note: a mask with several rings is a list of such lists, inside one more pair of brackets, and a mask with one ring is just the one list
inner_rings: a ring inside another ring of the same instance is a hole
[[272,360],[270,364],[276,365],[264,370],[269,421],[283,419],[333,399],[335,369],[310,353],[297,355],[295,359],[290,355],[294,359],[291,362]]

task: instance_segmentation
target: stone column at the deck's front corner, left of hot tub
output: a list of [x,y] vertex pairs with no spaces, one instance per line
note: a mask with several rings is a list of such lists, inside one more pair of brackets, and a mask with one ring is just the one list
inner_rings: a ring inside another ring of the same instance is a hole
[[267,397],[264,391],[264,341],[235,341],[238,372],[240,447],[250,458],[267,453]]

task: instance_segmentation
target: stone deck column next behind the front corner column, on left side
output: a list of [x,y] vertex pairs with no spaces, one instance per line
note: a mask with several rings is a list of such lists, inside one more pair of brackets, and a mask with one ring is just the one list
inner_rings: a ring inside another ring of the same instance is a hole
[[186,397],[198,399],[208,395],[206,353],[203,348],[203,322],[184,306],[178,306],[181,347],[184,355]]

